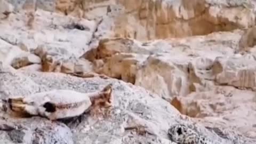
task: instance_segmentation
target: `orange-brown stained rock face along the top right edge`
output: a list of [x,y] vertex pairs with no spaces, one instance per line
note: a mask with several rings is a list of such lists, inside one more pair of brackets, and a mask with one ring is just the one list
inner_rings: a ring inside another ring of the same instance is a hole
[[[112,8],[113,4],[120,8]],[[205,35],[254,25],[251,1],[86,1],[85,17],[105,15],[108,5],[111,11],[121,13],[114,34],[141,40]],[[122,7],[124,11],[119,10]]]

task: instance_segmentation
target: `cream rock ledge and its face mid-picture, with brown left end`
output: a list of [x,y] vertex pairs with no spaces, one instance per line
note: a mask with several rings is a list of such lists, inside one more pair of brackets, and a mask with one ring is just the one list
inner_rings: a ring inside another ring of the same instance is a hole
[[[148,42],[131,38],[108,38],[102,39],[97,49],[85,53],[83,58],[94,63],[94,71],[97,73],[127,82],[124,77],[127,72],[134,73],[131,67],[135,66],[129,62],[126,66],[127,63],[123,61],[126,61],[125,55],[136,55],[132,57],[139,61],[136,63],[137,74],[132,74],[136,77],[135,85],[171,100],[172,95],[187,95],[192,91],[207,90],[214,85],[215,77],[223,69],[218,65],[217,58],[234,54],[240,32]],[[151,56],[146,60],[147,55]],[[97,61],[101,61],[101,64],[97,64]]]

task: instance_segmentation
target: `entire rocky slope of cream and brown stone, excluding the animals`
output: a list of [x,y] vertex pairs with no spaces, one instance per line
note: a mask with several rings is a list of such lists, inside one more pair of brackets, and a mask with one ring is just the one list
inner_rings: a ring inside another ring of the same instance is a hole
[[256,143],[254,3],[0,0],[1,99],[114,84],[109,117],[51,122],[2,106],[1,141],[175,143],[178,123],[215,143]]

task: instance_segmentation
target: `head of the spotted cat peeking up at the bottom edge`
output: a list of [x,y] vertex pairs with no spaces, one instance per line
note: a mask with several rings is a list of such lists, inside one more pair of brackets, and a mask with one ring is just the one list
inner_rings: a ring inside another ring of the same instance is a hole
[[168,130],[168,135],[173,142],[182,143],[185,139],[188,127],[183,124],[172,125]]

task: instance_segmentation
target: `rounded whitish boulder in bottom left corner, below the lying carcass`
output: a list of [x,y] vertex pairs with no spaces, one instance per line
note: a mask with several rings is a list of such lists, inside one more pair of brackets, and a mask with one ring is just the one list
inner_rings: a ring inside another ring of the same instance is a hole
[[[1,114],[1,117],[3,116]],[[4,128],[0,134],[3,143],[74,143],[73,134],[63,123],[51,123],[38,117],[30,119],[1,118],[0,123]]]

